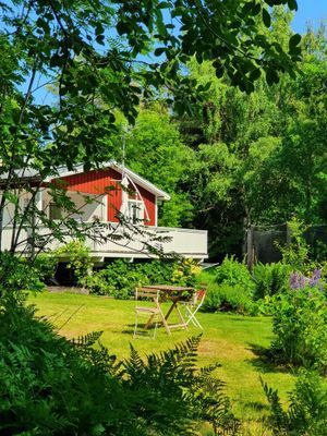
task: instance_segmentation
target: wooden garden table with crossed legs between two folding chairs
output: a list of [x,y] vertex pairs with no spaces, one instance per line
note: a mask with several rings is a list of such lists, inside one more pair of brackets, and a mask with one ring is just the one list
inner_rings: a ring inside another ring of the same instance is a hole
[[[185,322],[183,315],[181,314],[181,311],[179,308],[179,302],[183,300],[185,292],[193,293],[194,288],[191,287],[179,287],[179,286],[170,286],[170,284],[147,284],[144,286],[143,288],[147,289],[154,289],[156,291],[159,291],[160,294],[162,294],[162,300],[170,300],[171,301],[171,306],[169,307],[169,311],[165,316],[162,316],[162,324],[164,327],[166,328],[166,331],[168,335],[171,335],[170,329],[171,328],[187,328],[187,323]],[[175,311],[179,318],[180,323],[178,324],[168,324],[168,318],[172,314],[172,312]],[[147,328],[152,323],[152,318],[146,323],[145,328]]]

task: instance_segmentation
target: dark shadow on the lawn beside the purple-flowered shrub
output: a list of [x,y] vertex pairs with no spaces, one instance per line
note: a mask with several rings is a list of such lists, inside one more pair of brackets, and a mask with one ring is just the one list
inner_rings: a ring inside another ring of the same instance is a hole
[[255,354],[255,358],[249,359],[250,362],[261,373],[289,373],[291,367],[276,361],[276,356],[268,348],[256,343],[247,343],[247,350]]

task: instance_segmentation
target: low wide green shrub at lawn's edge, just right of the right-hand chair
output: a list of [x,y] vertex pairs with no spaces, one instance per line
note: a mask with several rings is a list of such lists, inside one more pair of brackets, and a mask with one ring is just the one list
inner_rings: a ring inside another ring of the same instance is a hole
[[255,315],[256,304],[252,301],[249,292],[239,284],[230,286],[222,283],[209,284],[204,310],[209,312],[237,312],[240,314]]

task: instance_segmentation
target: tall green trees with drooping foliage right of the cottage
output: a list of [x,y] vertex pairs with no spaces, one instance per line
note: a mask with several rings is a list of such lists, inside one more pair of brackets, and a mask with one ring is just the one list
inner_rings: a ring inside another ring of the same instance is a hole
[[[272,15],[275,37],[286,45],[290,15],[281,8]],[[259,78],[250,96],[227,76],[217,78],[209,62],[189,64],[192,77],[213,82],[199,120],[181,121],[182,137],[195,149],[184,189],[193,186],[194,223],[209,229],[213,255],[240,252],[250,225],[284,222],[293,214],[306,222],[326,219],[325,31],[308,32],[302,47],[301,76],[272,87]]]

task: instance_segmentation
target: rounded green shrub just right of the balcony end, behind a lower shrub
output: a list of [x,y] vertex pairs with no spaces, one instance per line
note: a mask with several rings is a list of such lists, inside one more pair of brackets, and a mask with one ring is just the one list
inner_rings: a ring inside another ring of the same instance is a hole
[[246,265],[237,262],[233,257],[225,257],[222,264],[216,270],[216,283],[238,286],[247,294],[254,291],[254,282]]

